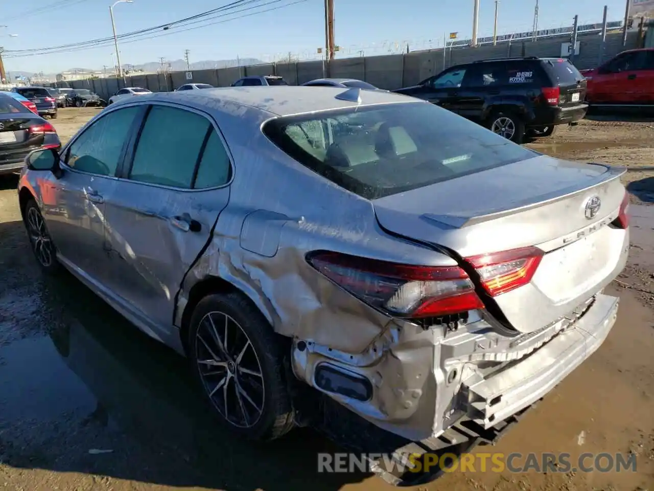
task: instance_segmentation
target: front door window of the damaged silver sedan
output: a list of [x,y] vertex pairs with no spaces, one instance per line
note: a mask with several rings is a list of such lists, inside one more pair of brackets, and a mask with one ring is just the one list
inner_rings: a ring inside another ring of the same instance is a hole
[[99,118],[69,148],[66,164],[82,172],[116,175],[129,130],[140,107],[126,107]]

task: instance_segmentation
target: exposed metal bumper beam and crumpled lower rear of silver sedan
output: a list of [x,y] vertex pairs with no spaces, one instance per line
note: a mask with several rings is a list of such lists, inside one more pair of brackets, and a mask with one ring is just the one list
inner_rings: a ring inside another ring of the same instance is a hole
[[519,336],[492,329],[483,318],[454,331],[393,325],[361,354],[296,340],[293,370],[408,441],[447,437],[464,419],[491,429],[541,399],[593,354],[617,308],[617,298],[597,294],[565,318]]

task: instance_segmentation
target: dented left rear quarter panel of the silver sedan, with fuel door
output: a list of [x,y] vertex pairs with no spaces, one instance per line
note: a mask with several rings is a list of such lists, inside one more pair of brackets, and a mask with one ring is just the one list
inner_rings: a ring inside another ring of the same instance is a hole
[[305,260],[307,252],[326,249],[409,264],[455,263],[385,234],[370,201],[277,149],[259,130],[269,118],[259,112],[256,132],[250,131],[250,122],[243,124],[249,115],[220,113],[218,124],[235,160],[230,202],[182,285],[177,325],[193,285],[219,277],[250,297],[277,333],[361,353],[387,329],[390,318],[319,274]]

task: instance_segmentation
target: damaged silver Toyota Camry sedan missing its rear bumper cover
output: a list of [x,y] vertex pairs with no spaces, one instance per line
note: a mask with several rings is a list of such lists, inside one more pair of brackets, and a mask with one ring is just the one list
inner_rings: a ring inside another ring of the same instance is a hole
[[622,173],[399,94],[219,88],[114,103],[18,194],[43,269],[188,356],[226,426],[279,437],[310,393],[401,455],[492,440],[602,344]]

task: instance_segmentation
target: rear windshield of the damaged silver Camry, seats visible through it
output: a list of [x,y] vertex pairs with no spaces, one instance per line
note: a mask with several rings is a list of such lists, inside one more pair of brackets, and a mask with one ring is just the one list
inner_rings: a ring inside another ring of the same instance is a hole
[[369,200],[538,155],[422,102],[276,118],[264,133],[301,164]]

